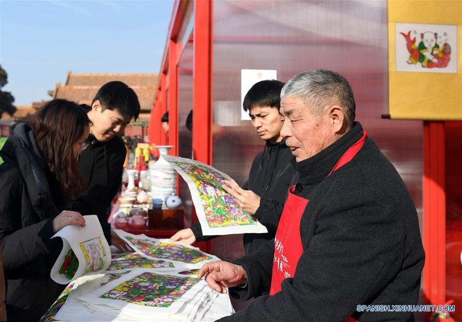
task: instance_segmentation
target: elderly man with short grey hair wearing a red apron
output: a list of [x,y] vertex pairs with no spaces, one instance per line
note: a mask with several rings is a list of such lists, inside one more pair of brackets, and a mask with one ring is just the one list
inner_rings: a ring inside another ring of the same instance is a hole
[[329,70],[300,73],[283,87],[280,111],[300,176],[274,243],[199,274],[242,300],[270,293],[223,320],[412,320],[360,307],[417,304],[424,250],[408,189],[354,122],[350,85]]

